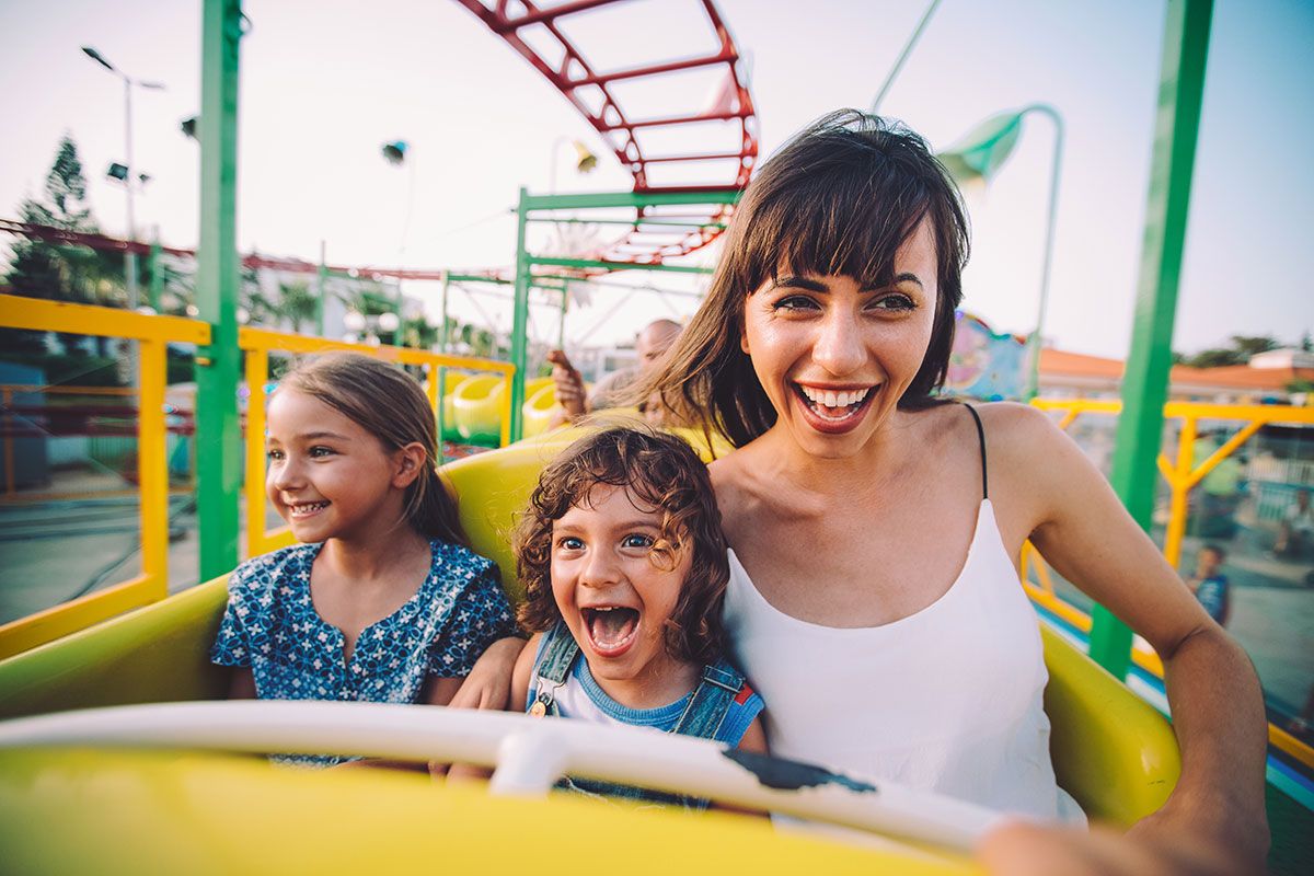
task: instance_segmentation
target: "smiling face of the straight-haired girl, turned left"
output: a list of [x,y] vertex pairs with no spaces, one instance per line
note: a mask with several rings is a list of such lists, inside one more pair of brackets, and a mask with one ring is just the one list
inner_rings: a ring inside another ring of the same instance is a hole
[[386,531],[415,473],[359,423],[290,387],[269,401],[265,493],[302,542]]

